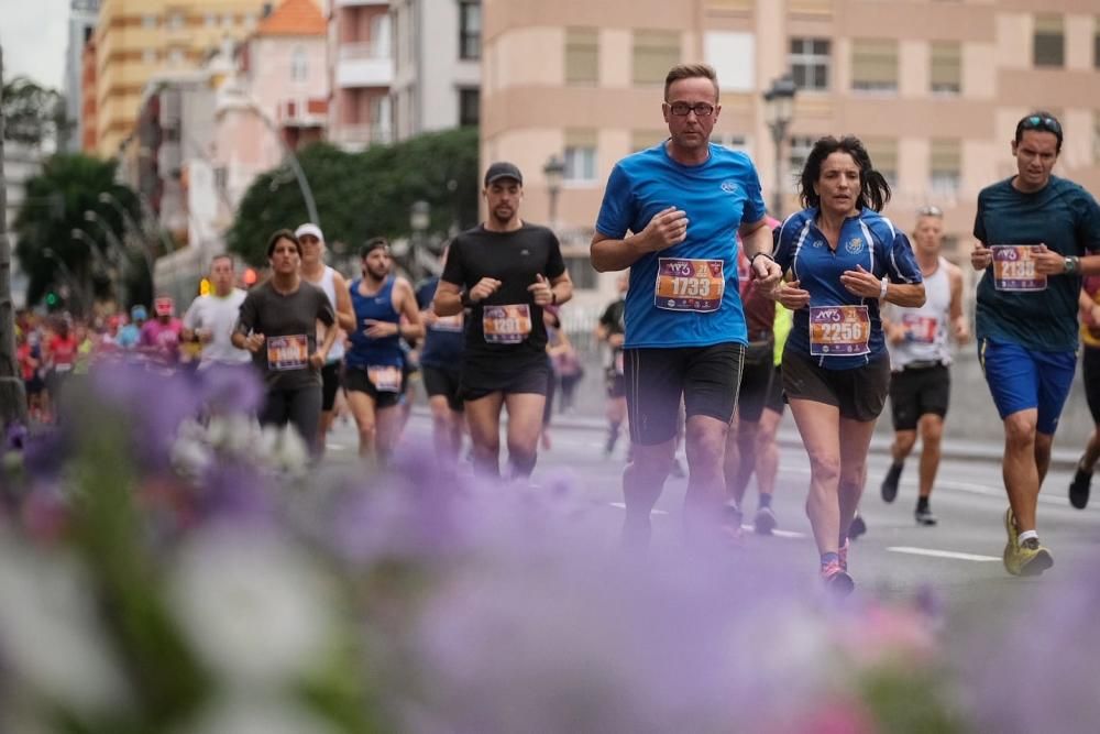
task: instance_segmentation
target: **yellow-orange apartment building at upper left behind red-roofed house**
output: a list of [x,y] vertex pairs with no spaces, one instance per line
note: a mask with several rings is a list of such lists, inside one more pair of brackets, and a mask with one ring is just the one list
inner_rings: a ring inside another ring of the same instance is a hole
[[[132,141],[145,85],[196,68],[226,39],[255,30],[263,0],[100,0],[96,25],[96,153]],[[128,141],[129,139],[129,141]]]

